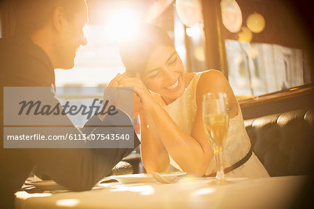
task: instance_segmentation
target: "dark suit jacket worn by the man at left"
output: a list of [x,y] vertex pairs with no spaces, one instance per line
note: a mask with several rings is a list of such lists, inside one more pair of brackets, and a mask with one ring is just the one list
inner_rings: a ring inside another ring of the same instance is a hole
[[[109,175],[111,169],[132,152],[133,149],[127,148],[3,149],[3,87],[51,87],[54,85],[54,69],[44,50],[20,34],[0,39],[0,72],[0,208],[13,207],[13,194],[20,189],[35,165],[60,185],[82,191],[91,189],[98,180]],[[131,124],[130,119],[126,118]],[[93,125],[114,124],[114,117],[105,117],[103,122],[95,116],[92,119]],[[72,123],[69,121],[69,124]],[[83,131],[89,134],[91,130]],[[136,134],[134,136],[134,147],[137,147],[140,142]]]

